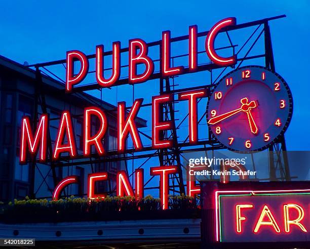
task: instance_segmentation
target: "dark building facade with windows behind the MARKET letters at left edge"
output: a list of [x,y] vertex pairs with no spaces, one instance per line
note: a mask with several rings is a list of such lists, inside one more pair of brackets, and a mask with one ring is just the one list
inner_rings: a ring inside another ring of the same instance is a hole
[[[54,147],[59,119],[63,110],[69,110],[78,154],[83,151],[83,110],[87,106],[97,106],[107,111],[109,128],[103,144],[107,151],[117,149],[117,116],[115,106],[101,101],[88,94],[64,94],[64,85],[49,76],[40,75],[38,83],[36,71],[19,63],[0,57],[1,84],[1,122],[0,122],[0,200],[24,198],[30,194],[31,181],[34,177],[34,193],[36,198],[51,197],[55,184],[66,176],[77,175],[80,186],[70,185],[65,189],[68,195],[83,196],[87,192],[87,175],[93,172],[106,171],[110,182],[102,182],[97,186],[98,192],[108,192],[115,188],[113,176],[117,171],[125,170],[124,161],[109,161],[83,165],[62,167],[61,162],[51,164],[19,163],[21,120],[25,115],[33,120],[35,108],[37,115],[49,114],[49,131],[51,146]],[[41,84],[41,85],[38,85]],[[42,94],[44,92],[44,94]],[[37,101],[37,102],[36,102]],[[44,111],[45,110],[45,111]],[[92,129],[96,129],[97,120],[92,121]],[[137,125],[145,127],[146,121],[138,118]],[[124,155],[118,155],[124,156]],[[68,162],[68,161],[66,161]],[[33,172],[34,171],[34,172]],[[34,176],[33,176],[34,175]]]

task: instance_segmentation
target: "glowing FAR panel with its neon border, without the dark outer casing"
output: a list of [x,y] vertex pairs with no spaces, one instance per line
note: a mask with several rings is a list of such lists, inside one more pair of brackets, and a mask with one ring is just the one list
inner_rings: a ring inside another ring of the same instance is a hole
[[275,237],[281,237],[282,241],[298,240],[310,229],[309,194],[310,189],[218,191],[217,239],[223,242],[273,241]]

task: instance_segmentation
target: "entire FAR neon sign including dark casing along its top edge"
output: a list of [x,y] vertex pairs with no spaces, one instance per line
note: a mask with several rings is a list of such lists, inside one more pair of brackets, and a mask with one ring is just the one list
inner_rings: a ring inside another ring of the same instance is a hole
[[302,184],[305,187],[299,182],[218,184],[209,190],[215,221],[212,241],[310,241],[310,188]]

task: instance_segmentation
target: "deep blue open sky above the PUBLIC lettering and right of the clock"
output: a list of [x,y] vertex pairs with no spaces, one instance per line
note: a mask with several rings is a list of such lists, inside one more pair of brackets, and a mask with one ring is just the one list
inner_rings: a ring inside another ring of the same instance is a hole
[[[219,3],[219,4],[217,4]],[[130,38],[161,39],[163,30],[184,35],[189,25],[208,30],[222,18],[238,23],[286,14],[270,23],[276,70],[288,82],[294,114],[288,150],[310,150],[310,2],[297,1],[6,1],[1,4],[0,54],[23,63],[64,59],[68,50],[93,54]]]

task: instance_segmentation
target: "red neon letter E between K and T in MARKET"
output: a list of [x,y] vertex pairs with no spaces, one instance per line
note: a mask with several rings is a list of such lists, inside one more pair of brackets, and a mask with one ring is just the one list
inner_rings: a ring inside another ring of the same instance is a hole
[[172,145],[171,140],[160,139],[161,131],[171,129],[171,121],[160,121],[162,114],[160,104],[168,101],[171,101],[171,95],[169,94],[152,97],[152,147],[156,149],[168,148]]

